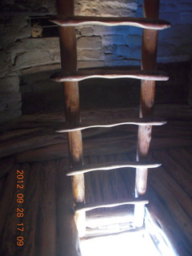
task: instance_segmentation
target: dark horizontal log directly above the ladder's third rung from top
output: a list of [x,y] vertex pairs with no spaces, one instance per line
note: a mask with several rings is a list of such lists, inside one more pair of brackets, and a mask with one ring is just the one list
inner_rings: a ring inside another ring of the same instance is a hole
[[[161,117],[168,120],[175,120],[178,119],[181,122],[181,126],[184,126],[182,122],[190,122],[192,110],[190,106],[187,105],[174,105],[174,104],[156,104],[154,108],[154,117]],[[113,119],[115,122],[120,121],[122,118],[135,118],[138,117],[138,107],[130,106],[124,108],[97,108],[97,109],[88,109],[81,111],[81,121],[82,122],[91,122],[91,120],[98,120],[98,122],[103,122],[106,120]],[[62,111],[53,112],[53,113],[38,113],[38,114],[29,114],[29,115],[22,115],[19,118],[15,118],[14,122],[6,122],[3,126],[0,127],[0,132],[11,130],[11,133],[15,133],[15,137],[19,135],[21,131],[17,131],[16,129],[32,129],[40,128],[41,126],[44,127],[55,127],[55,123],[65,122],[65,114]],[[181,126],[178,128],[180,129]],[[187,127],[190,126],[186,125]],[[163,131],[163,130],[162,130]],[[165,131],[165,130],[164,130]],[[174,129],[173,132],[176,130]],[[33,132],[33,130],[32,130]],[[93,132],[93,131],[89,131]],[[180,132],[180,130],[179,130]],[[10,133],[10,134],[11,134]],[[26,132],[27,134],[28,132]],[[22,134],[22,132],[21,132]],[[1,134],[4,136],[5,134]],[[12,135],[9,135],[13,137]]]

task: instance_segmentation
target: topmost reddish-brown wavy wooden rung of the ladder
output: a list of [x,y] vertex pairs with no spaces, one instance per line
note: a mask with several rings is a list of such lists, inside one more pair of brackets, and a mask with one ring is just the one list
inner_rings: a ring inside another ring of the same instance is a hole
[[162,19],[151,18],[127,18],[127,17],[88,17],[88,16],[58,16],[51,18],[58,26],[84,26],[84,25],[101,25],[101,26],[138,26],[142,29],[164,30],[170,27],[170,22]]

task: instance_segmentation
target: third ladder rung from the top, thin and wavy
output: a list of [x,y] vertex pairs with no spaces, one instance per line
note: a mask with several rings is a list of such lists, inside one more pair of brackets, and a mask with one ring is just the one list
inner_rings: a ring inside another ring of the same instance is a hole
[[[127,118],[118,120],[118,122],[102,122],[100,124],[97,123],[78,123],[77,125],[70,125],[63,123],[60,125],[61,128],[57,128],[56,132],[58,133],[66,133],[75,130],[86,130],[90,128],[107,128],[114,126],[124,126],[124,125],[135,125],[135,126],[162,126],[165,125],[166,121],[159,120],[158,118]],[[59,127],[59,126],[58,126]]]

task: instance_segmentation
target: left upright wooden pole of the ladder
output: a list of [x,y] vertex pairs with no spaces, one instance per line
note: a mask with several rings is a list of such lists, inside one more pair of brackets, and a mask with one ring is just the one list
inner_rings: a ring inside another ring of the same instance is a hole
[[[73,0],[57,0],[58,15],[74,15]],[[76,71],[77,68],[77,46],[74,27],[59,27],[59,38],[61,48],[61,62],[63,71]],[[77,124],[80,122],[80,104],[78,82],[64,82],[64,101],[66,122]],[[67,134],[72,166],[82,166],[82,132],[74,131]],[[72,178],[72,189],[74,202],[85,202],[84,175],[79,174]],[[84,235],[85,213],[75,215],[79,236]]]

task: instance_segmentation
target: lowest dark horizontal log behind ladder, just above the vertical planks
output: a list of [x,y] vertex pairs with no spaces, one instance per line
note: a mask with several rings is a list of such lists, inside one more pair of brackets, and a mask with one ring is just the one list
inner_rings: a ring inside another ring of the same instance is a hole
[[[94,140],[86,139],[84,143],[84,156],[102,155],[102,154],[125,154],[136,151],[136,138],[101,138]],[[49,141],[49,139],[48,139]],[[62,142],[62,141],[61,141]],[[21,153],[16,155],[18,162],[37,162],[48,161],[59,158],[67,158],[68,152],[64,142],[50,146],[42,146],[34,150],[18,149]],[[97,143],[97,146],[95,146]],[[17,143],[18,144],[18,143]],[[175,147],[192,146],[189,138],[153,138],[151,150],[174,149]],[[29,148],[30,149],[30,148]],[[15,150],[12,154],[15,153]],[[3,172],[4,174],[4,172]],[[3,175],[2,174],[2,175]]]

